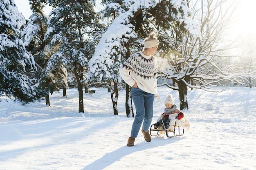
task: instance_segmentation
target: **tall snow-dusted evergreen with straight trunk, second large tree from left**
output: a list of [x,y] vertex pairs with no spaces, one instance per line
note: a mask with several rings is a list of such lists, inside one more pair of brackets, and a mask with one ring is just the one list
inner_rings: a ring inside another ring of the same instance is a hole
[[93,34],[99,29],[93,1],[48,0],[54,7],[45,39],[54,46],[47,71],[62,64],[72,68],[79,91],[79,113],[83,110],[83,83],[88,59],[94,52]]

